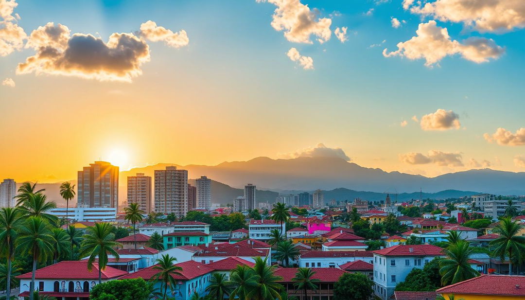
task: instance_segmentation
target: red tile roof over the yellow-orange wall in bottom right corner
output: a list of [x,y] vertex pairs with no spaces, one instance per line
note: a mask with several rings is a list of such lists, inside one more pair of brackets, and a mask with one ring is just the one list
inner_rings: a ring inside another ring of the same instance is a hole
[[440,294],[525,296],[525,276],[481,275],[439,288],[436,292]]

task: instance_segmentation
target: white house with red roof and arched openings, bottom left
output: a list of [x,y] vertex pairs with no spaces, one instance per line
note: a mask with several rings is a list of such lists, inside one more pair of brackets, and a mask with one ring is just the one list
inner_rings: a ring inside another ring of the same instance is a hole
[[[102,282],[117,279],[128,272],[107,266],[102,271]],[[29,283],[32,273],[16,276],[20,280],[19,297],[29,296]],[[35,289],[40,295],[58,299],[89,300],[89,291],[98,284],[99,268],[94,263],[88,271],[88,261],[61,261],[39,268],[35,273]]]

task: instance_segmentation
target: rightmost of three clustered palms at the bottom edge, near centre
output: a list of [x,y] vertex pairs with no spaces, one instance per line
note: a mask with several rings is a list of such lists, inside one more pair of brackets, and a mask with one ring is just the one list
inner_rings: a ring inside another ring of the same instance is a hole
[[282,285],[279,281],[282,280],[281,276],[275,276],[275,266],[269,266],[267,264],[268,257],[264,260],[258,256],[255,258],[255,282],[257,283],[256,288],[252,289],[247,299],[254,300],[275,300],[281,299],[279,294],[282,289]]

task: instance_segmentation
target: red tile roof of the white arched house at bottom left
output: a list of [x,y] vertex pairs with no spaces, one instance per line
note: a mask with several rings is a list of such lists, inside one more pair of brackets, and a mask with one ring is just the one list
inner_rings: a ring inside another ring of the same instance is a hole
[[[102,271],[102,279],[116,278],[128,274],[126,271],[107,266]],[[98,279],[98,264],[88,271],[88,261],[61,261],[36,270],[36,279]],[[16,276],[18,279],[30,279],[31,272]]]

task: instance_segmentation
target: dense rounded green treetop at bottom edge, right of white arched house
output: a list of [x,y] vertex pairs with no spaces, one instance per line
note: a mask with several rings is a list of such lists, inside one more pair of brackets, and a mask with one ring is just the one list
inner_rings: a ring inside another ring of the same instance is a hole
[[148,284],[142,279],[112,280],[94,286],[90,300],[149,300]]

